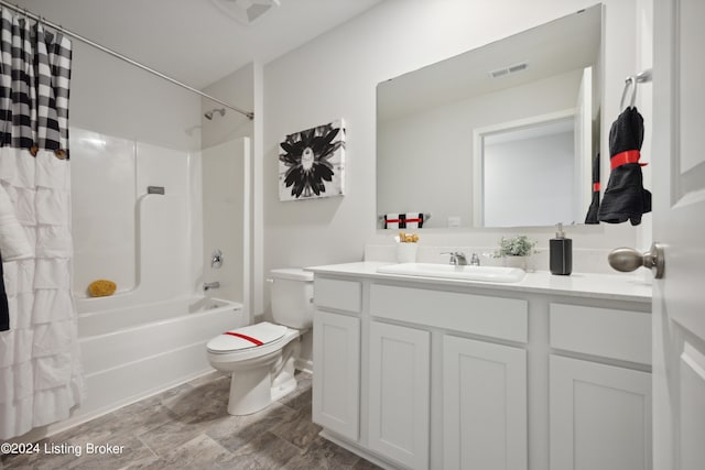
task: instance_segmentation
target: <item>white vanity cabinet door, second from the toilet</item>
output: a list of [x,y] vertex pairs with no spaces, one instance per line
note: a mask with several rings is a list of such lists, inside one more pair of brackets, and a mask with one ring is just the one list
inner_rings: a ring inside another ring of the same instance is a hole
[[369,447],[412,469],[429,468],[430,337],[370,324]]

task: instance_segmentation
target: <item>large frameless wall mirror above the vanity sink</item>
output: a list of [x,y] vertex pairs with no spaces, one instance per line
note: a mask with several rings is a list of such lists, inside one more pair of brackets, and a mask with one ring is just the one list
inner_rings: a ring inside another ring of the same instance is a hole
[[598,4],[379,84],[378,216],[430,214],[424,228],[583,223],[600,37]]

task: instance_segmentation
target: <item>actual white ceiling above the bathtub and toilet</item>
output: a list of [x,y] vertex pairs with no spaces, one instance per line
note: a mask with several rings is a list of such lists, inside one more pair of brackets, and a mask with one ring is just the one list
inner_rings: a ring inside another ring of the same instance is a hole
[[213,0],[10,0],[194,88],[267,63],[381,0],[280,0],[249,25]]

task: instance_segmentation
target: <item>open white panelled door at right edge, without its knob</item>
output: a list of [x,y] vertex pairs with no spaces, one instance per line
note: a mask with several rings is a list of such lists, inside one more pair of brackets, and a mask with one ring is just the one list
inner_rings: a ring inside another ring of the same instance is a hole
[[705,468],[705,1],[654,1],[654,468]]

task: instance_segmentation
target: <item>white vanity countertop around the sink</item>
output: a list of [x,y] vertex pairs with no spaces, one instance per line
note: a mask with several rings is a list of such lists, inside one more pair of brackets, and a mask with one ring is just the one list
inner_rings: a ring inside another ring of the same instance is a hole
[[517,283],[496,283],[440,277],[405,276],[400,274],[381,274],[377,272],[379,266],[388,264],[394,263],[364,261],[357,263],[311,266],[306,267],[306,271],[311,271],[314,274],[362,276],[378,280],[408,281],[434,285],[467,286],[473,288],[532,292],[651,303],[651,284],[637,276],[630,275],[573,273],[570,276],[556,276],[547,271],[536,271],[533,273],[527,273],[524,278]]

